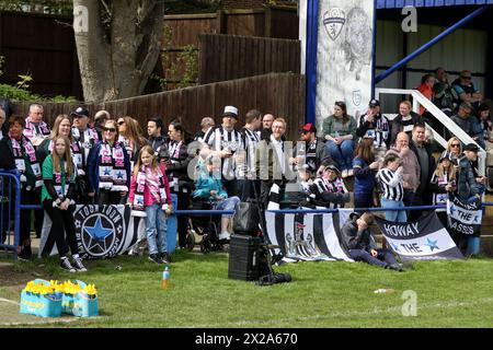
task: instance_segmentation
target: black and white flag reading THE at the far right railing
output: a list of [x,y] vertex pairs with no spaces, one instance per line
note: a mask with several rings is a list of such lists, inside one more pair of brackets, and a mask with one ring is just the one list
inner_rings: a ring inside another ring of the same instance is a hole
[[447,200],[447,217],[450,233],[479,236],[483,219],[481,199],[463,202],[450,194]]

